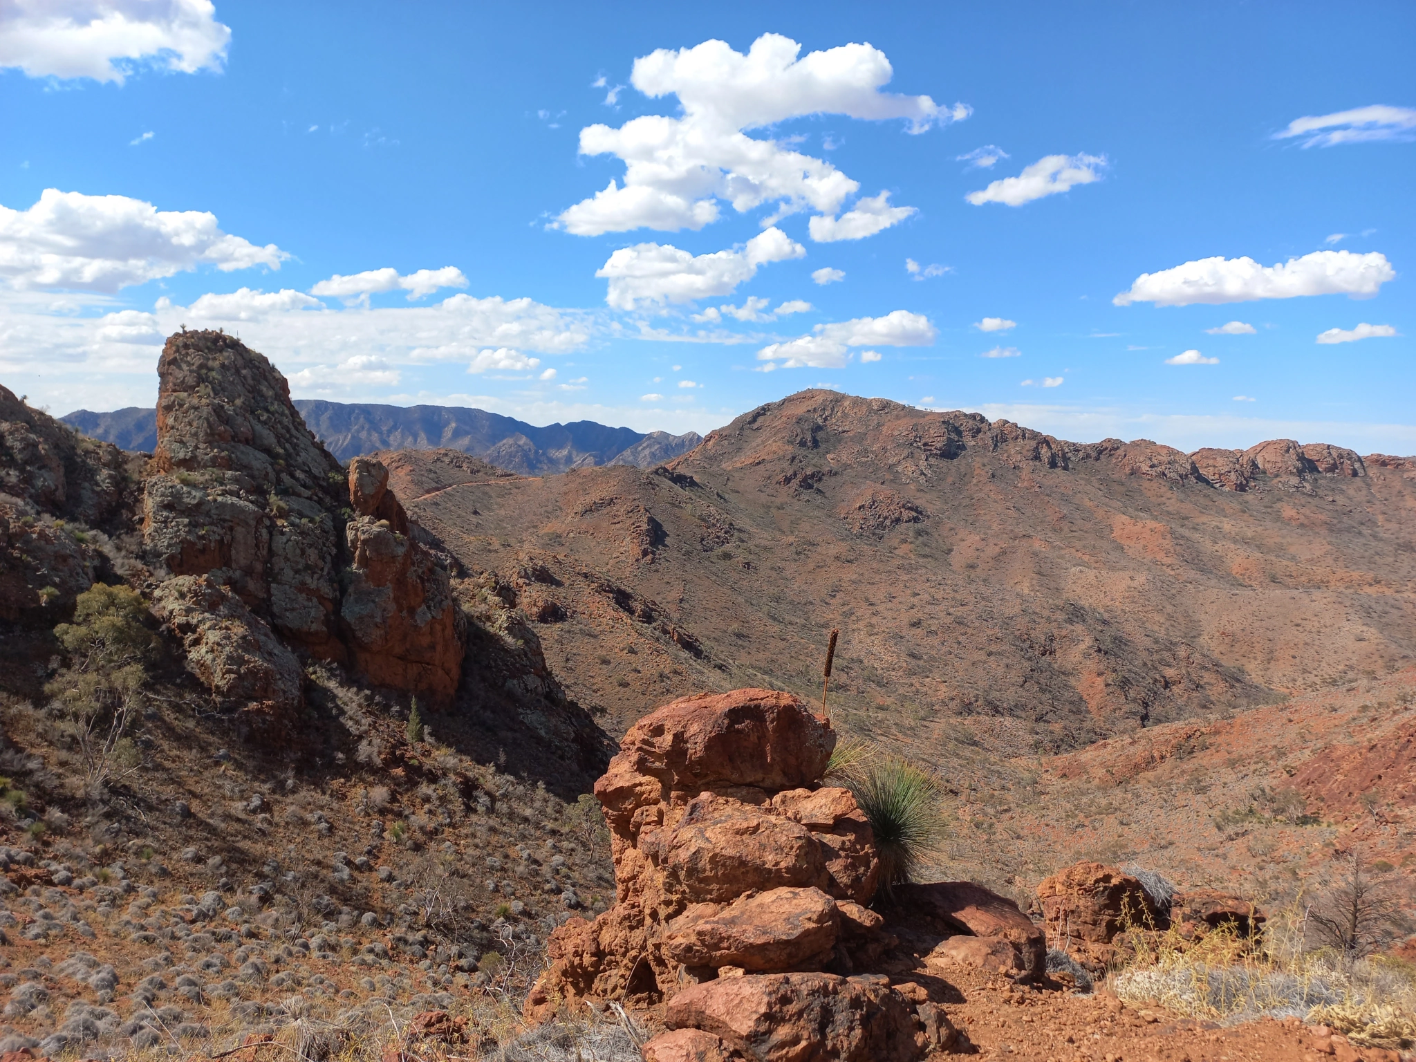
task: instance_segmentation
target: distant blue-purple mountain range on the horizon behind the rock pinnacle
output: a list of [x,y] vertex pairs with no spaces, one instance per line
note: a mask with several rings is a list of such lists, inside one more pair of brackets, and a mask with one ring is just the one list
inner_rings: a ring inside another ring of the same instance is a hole
[[[449,447],[490,464],[541,476],[596,464],[650,469],[694,449],[697,432],[670,435],[609,428],[595,421],[537,428],[484,409],[443,405],[374,405],[297,399],[304,422],[341,462],[374,450]],[[157,411],[129,406],[110,413],[76,409],[59,418],[93,439],[125,450],[157,446]]]

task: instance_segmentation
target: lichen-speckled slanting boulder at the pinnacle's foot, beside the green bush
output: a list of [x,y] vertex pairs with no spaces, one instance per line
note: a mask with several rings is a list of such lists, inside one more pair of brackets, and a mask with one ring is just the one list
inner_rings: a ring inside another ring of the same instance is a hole
[[187,670],[218,702],[265,738],[287,733],[300,708],[300,663],[241,598],[211,576],[181,575],[157,588],[153,615],[181,639]]

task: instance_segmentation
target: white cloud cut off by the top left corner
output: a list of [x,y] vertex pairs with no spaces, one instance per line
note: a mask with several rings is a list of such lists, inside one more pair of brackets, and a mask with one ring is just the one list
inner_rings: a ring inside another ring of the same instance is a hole
[[231,30],[211,0],[4,0],[0,68],[123,84],[142,65],[221,69]]

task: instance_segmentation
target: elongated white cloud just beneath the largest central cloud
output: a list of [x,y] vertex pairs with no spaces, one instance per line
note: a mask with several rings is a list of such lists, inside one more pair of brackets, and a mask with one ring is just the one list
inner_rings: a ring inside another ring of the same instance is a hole
[[620,248],[596,270],[609,280],[605,302],[617,310],[641,303],[687,303],[732,295],[769,262],[803,258],[806,248],[776,225],[759,232],[745,246],[694,256],[668,244],[636,244]]

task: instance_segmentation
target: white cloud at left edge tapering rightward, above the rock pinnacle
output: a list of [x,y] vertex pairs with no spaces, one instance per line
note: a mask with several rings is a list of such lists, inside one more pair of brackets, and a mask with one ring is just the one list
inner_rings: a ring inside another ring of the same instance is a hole
[[214,214],[160,211],[126,195],[45,188],[28,210],[0,207],[0,279],[21,290],[113,293],[202,265],[279,269],[285,258],[275,244],[222,232]]

